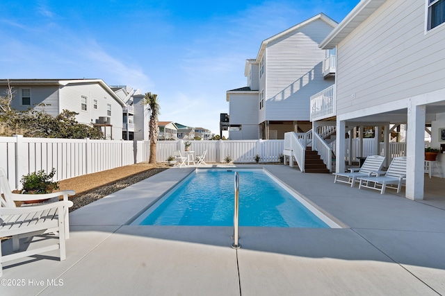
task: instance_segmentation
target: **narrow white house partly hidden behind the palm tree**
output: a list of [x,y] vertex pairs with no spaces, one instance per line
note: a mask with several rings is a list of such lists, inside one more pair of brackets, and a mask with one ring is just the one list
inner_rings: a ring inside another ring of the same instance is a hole
[[149,106],[140,103],[145,95],[127,85],[113,85],[111,89],[126,104],[122,114],[122,139],[148,141]]

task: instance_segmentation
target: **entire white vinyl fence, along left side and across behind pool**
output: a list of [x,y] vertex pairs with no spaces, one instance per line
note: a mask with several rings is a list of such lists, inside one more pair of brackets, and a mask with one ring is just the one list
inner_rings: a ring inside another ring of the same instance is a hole
[[[207,150],[206,162],[280,162],[284,140],[191,141],[193,155]],[[166,162],[173,150],[184,151],[184,141],[158,141],[156,159]],[[147,162],[148,141],[91,139],[42,139],[21,135],[0,137],[0,167],[6,171],[11,188],[21,188],[23,175],[56,168],[54,181],[109,170],[138,162]]]

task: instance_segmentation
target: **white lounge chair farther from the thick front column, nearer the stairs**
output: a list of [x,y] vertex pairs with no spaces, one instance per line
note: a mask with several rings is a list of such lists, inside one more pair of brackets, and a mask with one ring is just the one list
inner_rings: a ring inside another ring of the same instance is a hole
[[366,157],[366,160],[361,168],[349,168],[349,173],[334,173],[334,183],[347,183],[353,187],[355,182],[358,182],[357,177],[366,177],[369,175],[369,173],[380,171],[382,169],[383,162],[385,162],[385,158],[385,156],[380,155],[369,155],[369,157]]

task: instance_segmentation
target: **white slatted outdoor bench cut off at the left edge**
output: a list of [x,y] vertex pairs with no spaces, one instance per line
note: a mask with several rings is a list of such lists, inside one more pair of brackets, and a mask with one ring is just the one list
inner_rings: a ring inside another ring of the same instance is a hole
[[[13,236],[13,251],[15,253],[3,256],[0,248],[0,277],[3,274],[3,262],[18,258],[32,256],[60,250],[60,261],[65,260],[65,240],[69,238],[68,208],[72,207],[72,201],[67,200],[68,195],[74,191],[60,191],[57,193],[40,194],[39,198],[54,198],[63,195],[66,200],[51,202],[30,207],[16,207],[14,200],[34,200],[33,194],[16,194],[10,191],[6,173],[0,168],[0,237]],[[20,238],[31,238],[33,236],[49,233],[58,233],[58,243],[35,250],[16,252],[19,250]]]

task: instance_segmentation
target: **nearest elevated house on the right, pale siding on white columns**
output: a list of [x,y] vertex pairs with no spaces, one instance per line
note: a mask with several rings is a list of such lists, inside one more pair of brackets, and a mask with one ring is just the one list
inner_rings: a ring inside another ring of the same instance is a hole
[[[390,161],[389,126],[407,123],[405,195],[423,199],[426,125],[431,146],[445,147],[444,44],[445,0],[360,1],[321,42],[321,49],[337,48],[335,104],[320,105],[332,110],[317,118],[335,116],[337,172],[345,171],[338,155],[347,151],[351,127],[385,127],[383,154]],[[438,160],[444,172],[445,155]]]

